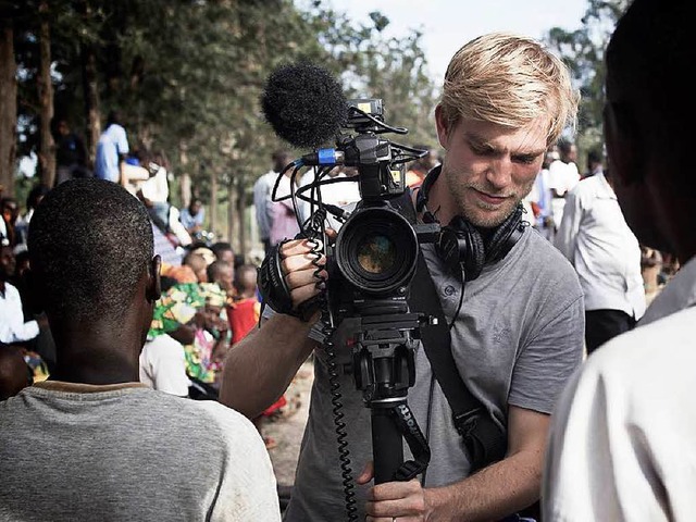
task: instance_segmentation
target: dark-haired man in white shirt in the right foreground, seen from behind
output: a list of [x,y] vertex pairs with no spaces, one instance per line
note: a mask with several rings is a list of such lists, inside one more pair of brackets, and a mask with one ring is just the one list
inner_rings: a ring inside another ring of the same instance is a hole
[[680,272],[637,326],[574,375],[551,417],[545,521],[693,521],[696,513],[696,179],[688,133],[696,60],[688,2],[634,0],[606,52],[614,190],[641,244]]

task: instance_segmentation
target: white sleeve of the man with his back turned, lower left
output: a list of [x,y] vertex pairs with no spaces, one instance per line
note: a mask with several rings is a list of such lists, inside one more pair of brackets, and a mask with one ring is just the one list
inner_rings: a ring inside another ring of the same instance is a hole
[[212,401],[202,406],[219,421],[226,445],[225,470],[209,520],[279,522],[275,474],[261,435],[237,411]]

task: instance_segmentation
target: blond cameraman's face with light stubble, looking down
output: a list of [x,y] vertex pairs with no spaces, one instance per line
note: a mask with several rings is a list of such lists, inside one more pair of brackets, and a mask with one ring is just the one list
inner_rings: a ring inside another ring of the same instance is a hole
[[547,119],[520,129],[460,119],[447,128],[438,108],[436,123],[447,150],[447,190],[440,202],[445,215],[463,215],[475,226],[498,226],[534,185],[547,147]]

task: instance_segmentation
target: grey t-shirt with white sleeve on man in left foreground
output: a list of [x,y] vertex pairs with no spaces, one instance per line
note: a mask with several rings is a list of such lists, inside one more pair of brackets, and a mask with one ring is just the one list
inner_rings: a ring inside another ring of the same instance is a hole
[[38,383],[0,402],[1,521],[279,521],[271,460],[219,402]]

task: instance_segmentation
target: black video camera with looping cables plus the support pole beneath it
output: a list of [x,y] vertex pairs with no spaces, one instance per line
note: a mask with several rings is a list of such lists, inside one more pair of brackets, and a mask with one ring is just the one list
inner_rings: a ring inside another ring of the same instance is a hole
[[[381,137],[388,132],[408,132],[384,122],[382,100],[349,100],[348,105],[347,132],[337,136],[336,147],[301,158],[302,165],[319,166],[314,183],[298,190],[298,197],[316,207],[303,233],[307,237],[323,234],[326,212],[341,222],[335,241],[322,235],[330,274],[323,296],[324,332],[330,340],[344,319],[359,320],[352,372],[372,412],[375,482],[410,480],[424,471],[430,460],[427,443],[408,408],[407,393],[415,381],[420,328],[433,318],[410,310],[408,298],[420,244],[434,241],[439,225],[415,222],[405,164],[427,151]],[[337,165],[358,171],[360,200],[350,212],[321,202],[322,184],[334,182],[322,181],[325,170]],[[315,197],[306,197],[302,192],[307,191]],[[415,459],[406,463],[403,438]]]

